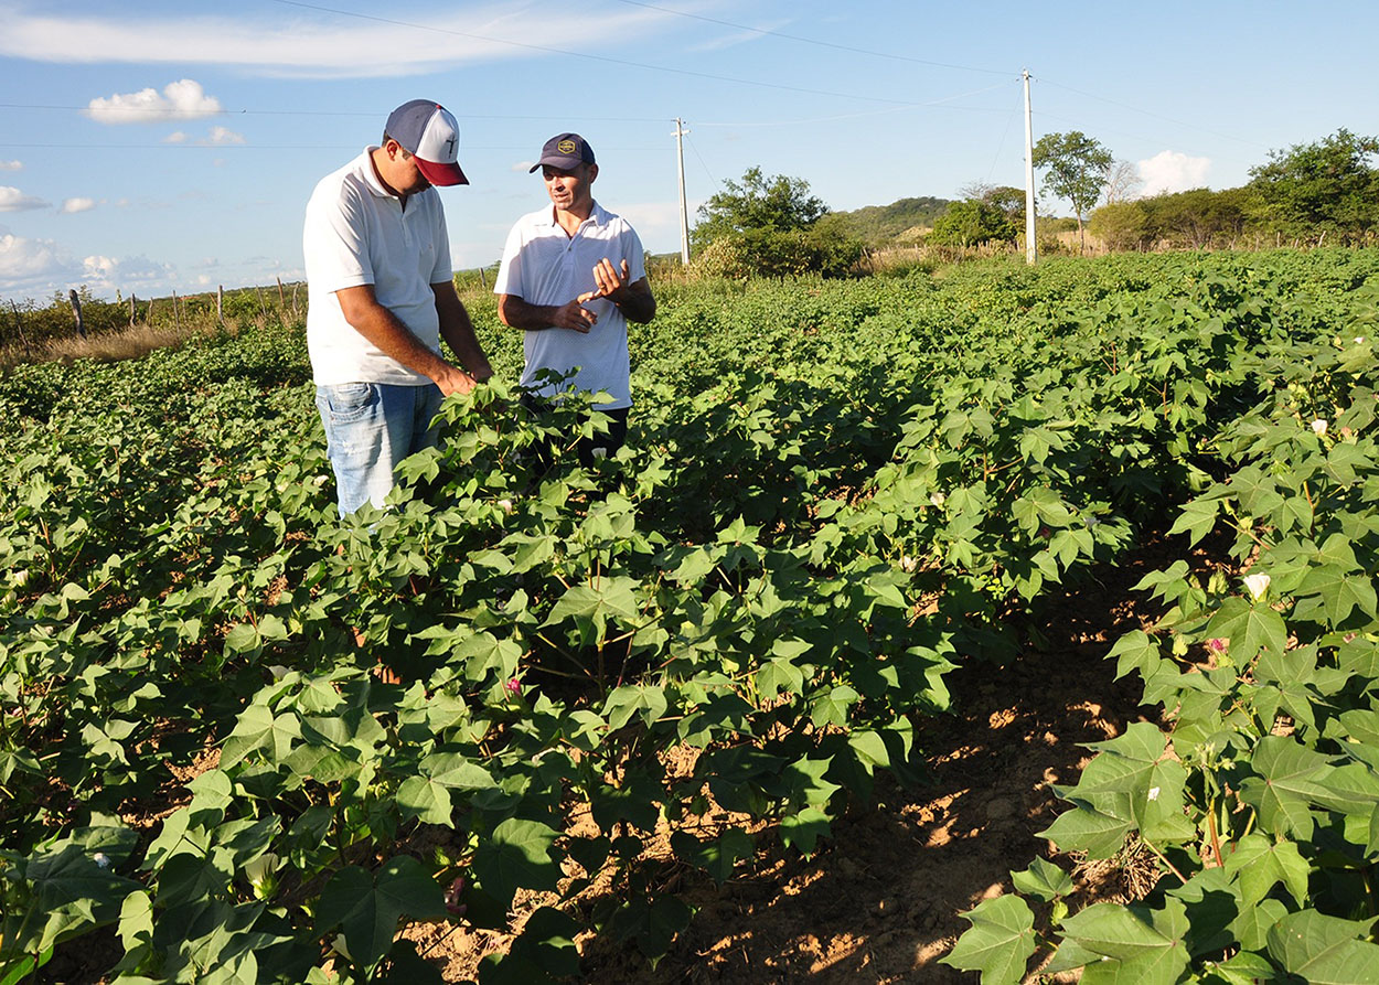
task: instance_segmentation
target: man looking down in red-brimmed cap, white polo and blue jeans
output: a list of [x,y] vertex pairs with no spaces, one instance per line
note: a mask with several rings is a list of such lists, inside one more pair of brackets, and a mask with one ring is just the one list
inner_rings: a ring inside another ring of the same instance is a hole
[[433,188],[469,183],[458,152],[455,117],[412,99],[306,206],[306,344],[341,516],[381,506],[397,464],[436,444],[441,399],[494,372],[455,294]]

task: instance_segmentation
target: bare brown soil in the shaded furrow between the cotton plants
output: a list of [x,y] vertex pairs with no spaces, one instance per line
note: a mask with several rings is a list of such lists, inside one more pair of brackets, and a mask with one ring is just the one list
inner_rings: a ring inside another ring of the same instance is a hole
[[[1054,786],[1077,782],[1088,742],[1113,738],[1136,720],[1158,722],[1157,709],[1138,704],[1138,680],[1114,680],[1105,655],[1149,618],[1131,586],[1168,563],[1147,550],[1045,603],[1033,622],[1037,632],[1029,633],[1037,644],[1004,665],[976,662],[947,677],[953,713],[927,720],[916,737],[928,767],[920,784],[902,788],[878,777],[873,803],[834,822],[833,837],[809,858],[768,837],[723,886],[685,875],[677,894],[695,917],[656,967],[633,945],[581,939],[587,979],[975,982],[975,974],[938,959],[967,928],[960,915],[1009,891],[1009,873],[1036,855],[1073,869],[1074,911],[1142,897],[1154,876],[1140,859],[1080,865],[1037,832],[1060,810]],[[541,902],[528,899],[523,909]],[[452,982],[476,978],[484,955],[510,942],[506,934],[450,923],[414,924],[404,935]],[[119,945],[108,944],[114,953],[102,968],[119,957]],[[103,981],[91,967],[95,953],[102,949],[87,951],[83,962],[59,951],[43,981]]]

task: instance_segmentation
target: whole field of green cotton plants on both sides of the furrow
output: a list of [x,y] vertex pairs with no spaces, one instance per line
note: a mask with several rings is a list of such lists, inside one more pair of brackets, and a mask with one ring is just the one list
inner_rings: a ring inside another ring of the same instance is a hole
[[301,327],[0,379],[0,985],[92,934],[125,985],[440,981],[399,930],[514,899],[481,982],[578,978],[590,931],[654,963],[667,866],[815,851],[914,779],[945,675],[1165,538],[1110,654],[1165,728],[1047,832],[1156,888],[1070,913],[1038,861],[947,960],[1375,981],[1379,252],[658,294],[615,461],[538,480],[499,382],[345,521]]

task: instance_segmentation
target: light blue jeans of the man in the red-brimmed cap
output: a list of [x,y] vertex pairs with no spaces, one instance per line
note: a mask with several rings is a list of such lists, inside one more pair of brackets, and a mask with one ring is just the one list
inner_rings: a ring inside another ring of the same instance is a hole
[[440,412],[440,388],[397,384],[334,384],[316,388],[316,410],[325,425],[325,454],[335,470],[341,516],[365,502],[383,505],[393,469],[440,439],[432,419]]

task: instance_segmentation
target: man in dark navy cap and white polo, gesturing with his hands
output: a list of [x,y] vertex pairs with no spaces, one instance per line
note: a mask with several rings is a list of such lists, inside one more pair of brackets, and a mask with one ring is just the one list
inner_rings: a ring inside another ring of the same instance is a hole
[[651,321],[656,299],[636,230],[594,201],[598,164],[589,143],[579,134],[557,134],[531,170],[538,168],[550,206],[520,218],[507,235],[494,283],[498,317],[525,330],[521,384],[532,389],[524,399],[530,408],[549,407],[571,385],[542,382],[542,370],[561,375],[578,370],[575,389],[612,397],[598,407],[612,418],[608,433],[579,446],[579,458],[589,465],[596,450],[612,454],[626,440],[627,321]]

